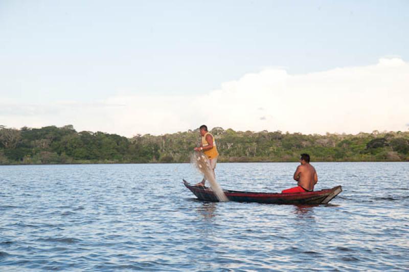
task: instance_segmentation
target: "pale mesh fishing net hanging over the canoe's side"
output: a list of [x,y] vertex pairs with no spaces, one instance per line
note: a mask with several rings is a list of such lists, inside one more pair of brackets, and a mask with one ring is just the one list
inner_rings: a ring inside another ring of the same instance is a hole
[[208,180],[217,199],[221,202],[229,201],[229,198],[226,197],[220,185],[216,181],[216,176],[214,175],[214,171],[210,166],[209,158],[203,154],[203,152],[194,152],[191,162],[203,175],[205,175],[205,178]]

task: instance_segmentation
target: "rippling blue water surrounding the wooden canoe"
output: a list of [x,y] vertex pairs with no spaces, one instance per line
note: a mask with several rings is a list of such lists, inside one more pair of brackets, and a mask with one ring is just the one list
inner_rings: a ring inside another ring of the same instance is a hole
[[[0,270],[409,269],[409,164],[316,163],[328,206],[195,200],[189,164],[0,166]],[[219,164],[280,191],[297,164]]]

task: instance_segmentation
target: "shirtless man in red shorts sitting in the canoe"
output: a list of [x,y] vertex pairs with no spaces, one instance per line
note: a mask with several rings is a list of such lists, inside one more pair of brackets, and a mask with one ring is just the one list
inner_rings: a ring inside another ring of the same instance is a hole
[[314,191],[314,185],[318,182],[315,168],[310,165],[310,155],[303,153],[300,158],[301,165],[297,167],[294,173],[294,180],[297,180],[298,186],[283,190],[282,193],[304,193]]

